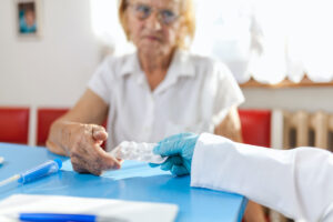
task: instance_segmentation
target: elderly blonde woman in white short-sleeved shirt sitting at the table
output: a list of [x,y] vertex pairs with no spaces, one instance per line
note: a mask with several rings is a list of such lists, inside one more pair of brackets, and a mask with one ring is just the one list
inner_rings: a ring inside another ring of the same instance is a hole
[[[195,29],[192,0],[121,0],[119,17],[135,53],[102,62],[74,108],[52,124],[50,151],[69,155],[78,172],[101,174],[121,165],[103,141],[111,150],[185,131],[240,141],[238,83],[220,62],[184,50]],[[248,218],[262,221],[256,206]]]

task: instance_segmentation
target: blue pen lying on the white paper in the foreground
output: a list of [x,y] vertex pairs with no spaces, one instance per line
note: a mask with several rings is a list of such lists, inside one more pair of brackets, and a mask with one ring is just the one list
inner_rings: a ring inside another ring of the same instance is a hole
[[69,213],[20,213],[16,218],[24,222],[127,222],[127,220],[119,218]]

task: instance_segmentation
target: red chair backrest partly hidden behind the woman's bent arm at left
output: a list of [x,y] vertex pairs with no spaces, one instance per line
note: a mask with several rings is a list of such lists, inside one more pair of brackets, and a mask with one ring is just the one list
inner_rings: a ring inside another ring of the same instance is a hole
[[68,111],[69,109],[54,108],[39,108],[37,110],[37,145],[46,145],[52,122]]

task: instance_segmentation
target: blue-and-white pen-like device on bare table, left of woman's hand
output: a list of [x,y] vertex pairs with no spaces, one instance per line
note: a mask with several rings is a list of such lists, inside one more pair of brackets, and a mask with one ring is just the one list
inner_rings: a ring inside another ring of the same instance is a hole
[[49,160],[31,170],[28,170],[23,173],[14,174],[13,176],[1,181],[0,186],[16,181],[21,184],[29,183],[42,176],[58,172],[61,169],[61,167],[62,162],[60,159]]

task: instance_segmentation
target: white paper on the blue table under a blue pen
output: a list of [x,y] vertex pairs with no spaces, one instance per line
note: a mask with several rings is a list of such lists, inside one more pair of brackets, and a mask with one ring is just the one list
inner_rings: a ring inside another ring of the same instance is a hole
[[0,221],[9,221],[8,215],[17,215],[22,212],[84,213],[118,218],[129,222],[171,222],[175,220],[178,205],[114,199],[27,194],[14,194],[0,202]]

